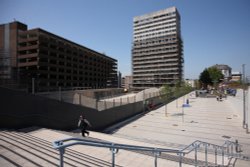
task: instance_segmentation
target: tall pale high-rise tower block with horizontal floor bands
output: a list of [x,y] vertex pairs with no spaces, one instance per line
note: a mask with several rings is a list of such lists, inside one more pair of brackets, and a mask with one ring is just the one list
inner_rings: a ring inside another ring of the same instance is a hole
[[133,19],[133,88],[173,85],[183,79],[180,15],[175,7]]

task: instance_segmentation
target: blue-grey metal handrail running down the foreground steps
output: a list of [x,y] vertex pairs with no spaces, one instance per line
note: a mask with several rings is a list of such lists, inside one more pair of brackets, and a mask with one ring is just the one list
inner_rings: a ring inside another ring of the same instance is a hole
[[238,141],[225,141],[222,146],[202,142],[202,141],[195,141],[192,144],[188,145],[184,149],[165,149],[165,148],[154,148],[154,147],[144,147],[144,146],[135,146],[135,145],[126,145],[126,144],[117,144],[111,142],[103,142],[103,141],[93,141],[89,139],[79,139],[79,138],[68,138],[63,140],[57,140],[53,142],[53,147],[59,150],[60,153],[60,166],[63,167],[63,158],[65,149],[67,147],[73,145],[86,145],[86,146],[93,146],[93,147],[102,147],[102,148],[109,148],[112,155],[112,167],[115,166],[115,154],[118,153],[119,150],[129,150],[129,151],[139,151],[139,152],[150,152],[154,156],[154,166],[157,167],[157,158],[162,153],[171,153],[176,154],[179,158],[178,163],[179,167],[182,166],[183,158],[185,155],[194,152],[194,166],[200,166],[198,160],[198,153],[205,154],[205,160],[202,161],[202,166],[208,166],[208,154],[214,155],[214,165],[218,165],[218,156],[221,156],[221,165],[224,166],[225,164],[225,157],[236,158],[236,159],[243,159],[243,160],[250,160],[249,157],[243,156],[241,154],[241,145],[239,145]]

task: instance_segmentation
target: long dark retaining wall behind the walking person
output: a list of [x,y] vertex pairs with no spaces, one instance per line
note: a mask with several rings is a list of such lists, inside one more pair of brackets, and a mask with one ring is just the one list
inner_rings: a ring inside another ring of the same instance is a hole
[[93,130],[102,130],[143,111],[143,102],[131,103],[104,111],[74,105],[24,92],[0,88],[0,127],[41,126],[75,129],[79,115],[84,114]]

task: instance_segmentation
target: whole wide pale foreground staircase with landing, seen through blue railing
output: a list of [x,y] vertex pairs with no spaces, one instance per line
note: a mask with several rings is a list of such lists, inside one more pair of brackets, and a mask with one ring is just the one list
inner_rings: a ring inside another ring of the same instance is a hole
[[[79,132],[63,132],[43,128],[27,128],[21,130],[0,131],[0,166],[59,166],[59,151],[52,147],[55,140],[77,137]],[[114,137],[98,132],[91,132],[90,141],[108,141],[127,145],[162,148],[154,143],[140,142],[125,138]],[[106,148],[90,147],[86,145],[72,146],[64,154],[64,166],[112,166],[111,151]],[[182,157],[182,166],[194,166],[194,155]],[[173,154],[161,154],[158,166],[179,166],[180,157]],[[208,166],[219,166],[213,163],[214,155],[208,154]],[[235,159],[225,158],[225,166],[233,166]],[[116,154],[115,166],[154,166],[155,157],[151,152],[120,150]],[[198,154],[198,166],[205,166],[204,152]],[[222,165],[221,165],[222,166]]]

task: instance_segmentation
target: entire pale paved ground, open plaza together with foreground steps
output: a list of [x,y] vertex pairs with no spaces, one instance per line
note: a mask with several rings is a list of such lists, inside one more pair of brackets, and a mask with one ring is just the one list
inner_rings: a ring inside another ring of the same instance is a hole
[[[186,99],[189,107],[181,107]],[[160,148],[181,149],[195,140],[222,145],[225,140],[238,140],[243,154],[250,156],[250,134],[242,128],[242,118],[229,104],[230,98],[184,96],[151,112],[138,115],[109,128],[109,134],[91,132],[91,139]],[[233,100],[233,99],[231,99]],[[57,166],[59,154],[52,142],[68,137],[81,137],[79,132],[34,129],[29,132],[0,131],[0,166]],[[188,156],[187,156],[188,158]],[[211,157],[210,157],[211,158]],[[154,166],[154,157],[121,150],[117,166]],[[65,166],[111,166],[108,149],[74,146],[65,153]],[[169,158],[159,158],[158,166],[179,166]],[[182,166],[192,166],[185,163]],[[236,166],[250,166],[250,161],[236,161]]]

